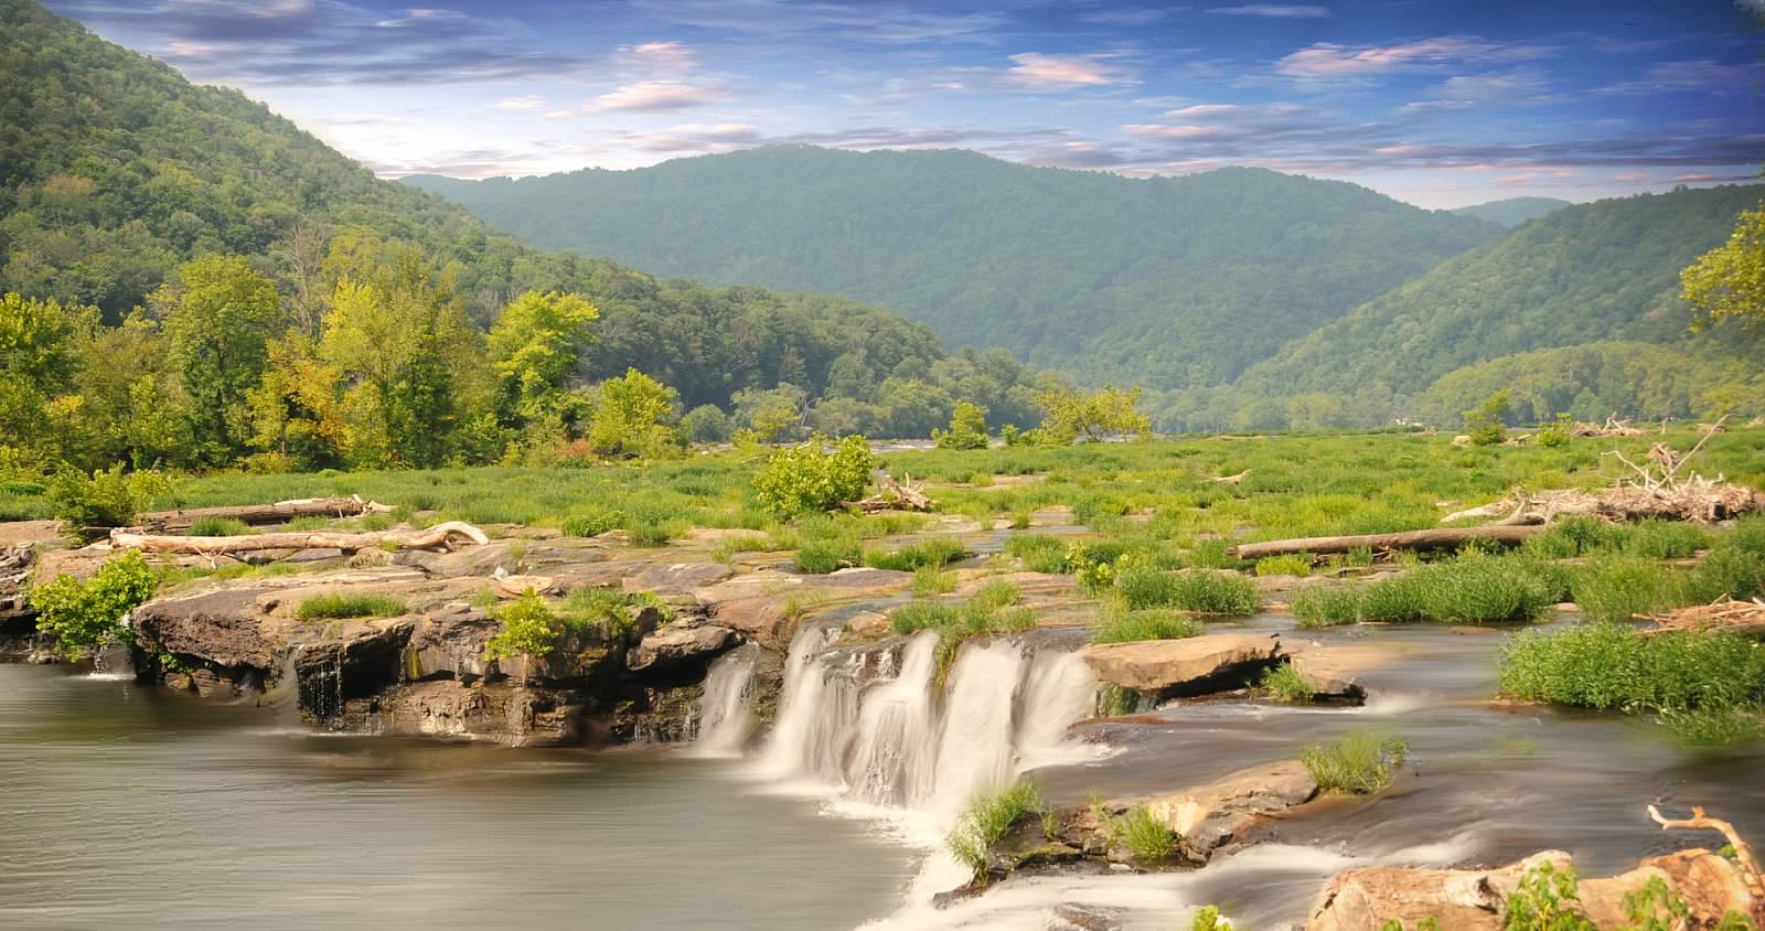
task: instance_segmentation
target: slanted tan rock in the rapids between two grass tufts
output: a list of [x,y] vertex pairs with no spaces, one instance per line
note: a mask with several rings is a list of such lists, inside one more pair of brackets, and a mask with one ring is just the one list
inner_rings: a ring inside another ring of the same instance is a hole
[[1318,785],[1297,760],[1234,772],[1175,795],[1145,802],[1145,809],[1183,836],[1188,850],[1205,859],[1269,815],[1310,802]]

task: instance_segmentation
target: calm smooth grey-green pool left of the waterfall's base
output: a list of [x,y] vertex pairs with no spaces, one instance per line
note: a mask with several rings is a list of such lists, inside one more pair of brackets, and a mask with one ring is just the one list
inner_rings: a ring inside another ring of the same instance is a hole
[[277,728],[0,665],[0,927],[852,927],[913,853],[732,763]]

